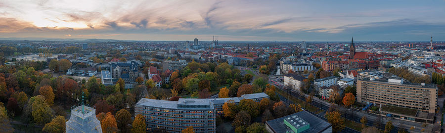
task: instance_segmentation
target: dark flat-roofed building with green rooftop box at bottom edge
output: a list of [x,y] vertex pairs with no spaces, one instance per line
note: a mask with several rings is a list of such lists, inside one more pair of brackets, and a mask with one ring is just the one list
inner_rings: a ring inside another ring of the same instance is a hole
[[303,110],[266,121],[267,133],[332,133],[332,124],[325,118]]

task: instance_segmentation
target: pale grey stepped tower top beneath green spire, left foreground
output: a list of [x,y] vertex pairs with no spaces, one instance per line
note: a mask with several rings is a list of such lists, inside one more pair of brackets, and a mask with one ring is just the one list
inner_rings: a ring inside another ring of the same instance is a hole
[[65,122],[65,133],[102,133],[96,109],[83,104],[72,109],[70,120]]

